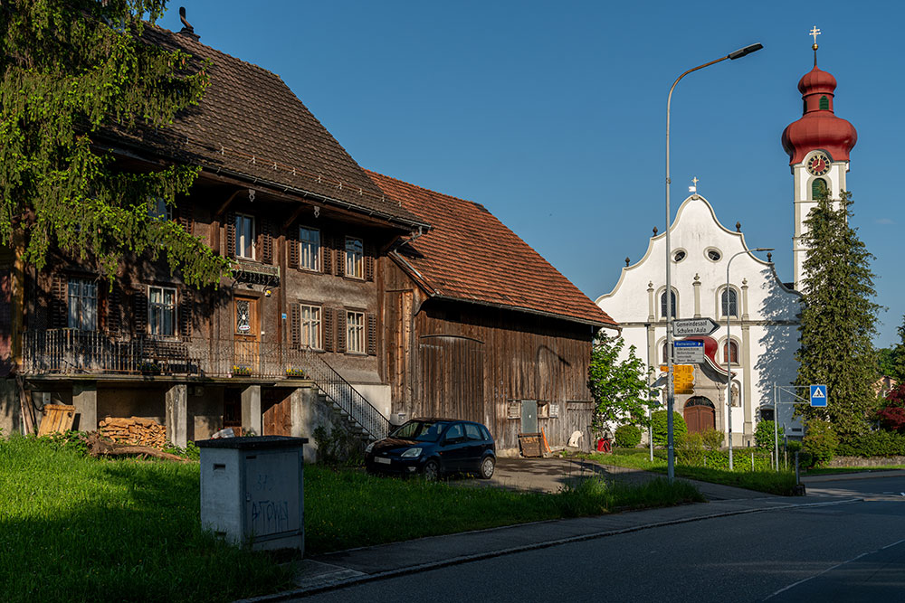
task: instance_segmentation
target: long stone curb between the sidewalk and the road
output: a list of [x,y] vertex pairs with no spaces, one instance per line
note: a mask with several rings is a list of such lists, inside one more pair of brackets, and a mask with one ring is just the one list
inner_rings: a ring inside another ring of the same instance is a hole
[[[640,525],[633,525],[627,528],[620,528],[618,530],[606,530],[603,532],[591,532],[587,534],[580,534],[578,536],[569,536],[568,538],[559,538],[551,541],[544,542],[533,542],[531,544],[522,544],[519,546],[508,547],[505,549],[498,549],[496,551],[484,551],[480,553],[474,553],[472,555],[460,555],[458,557],[453,557],[451,559],[445,559],[443,561],[430,561],[428,563],[420,563],[418,565],[410,565],[405,568],[398,568],[396,570],[386,570],[386,571],[378,571],[374,574],[364,574],[361,576],[350,577],[346,579],[338,579],[333,581],[328,581],[322,584],[318,584],[311,587],[303,587],[300,589],[293,590],[285,590],[283,592],[274,593],[272,595],[262,595],[261,597],[254,598],[243,598],[235,601],[234,603],[266,603],[269,601],[285,601],[291,598],[302,598],[309,597],[310,595],[316,595],[321,592],[326,592],[329,590],[335,589],[344,589],[349,586],[355,586],[357,584],[364,584],[366,582],[372,582],[381,579],[390,579],[396,578],[399,576],[407,576],[410,574],[416,574],[423,571],[429,570],[438,570],[440,568],[446,568],[453,565],[462,565],[463,563],[470,563],[472,561],[483,561],[485,559],[491,559],[493,557],[500,557],[501,555],[511,555],[518,552],[523,551],[537,551],[539,549],[548,549],[550,547],[560,546],[563,544],[569,544],[571,542],[584,542],[589,540],[595,540],[597,538],[606,538],[607,536],[617,536],[619,534],[625,534],[630,532],[640,532],[642,530],[651,530],[653,528],[661,528],[669,525],[679,525],[681,523],[692,523],[692,522],[700,522],[708,519],[719,519],[720,517],[731,517],[733,515],[744,515],[748,513],[764,513],[767,511],[781,511],[784,509],[796,509],[796,508],[805,508],[805,507],[819,507],[819,506],[834,506],[837,504],[852,504],[862,502],[863,498],[846,498],[841,501],[827,501],[822,503],[804,503],[804,504],[778,504],[776,506],[769,507],[758,507],[752,509],[738,509],[735,511],[724,511],[721,513],[709,513],[706,515],[700,515],[698,517],[684,517],[682,519],[672,519],[665,522],[654,522],[654,523],[643,523]],[[506,529],[511,528],[513,526],[500,526],[500,528],[491,528],[491,529]],[[452,534],[450,534],[452,535]]]

